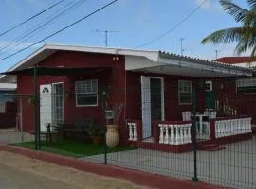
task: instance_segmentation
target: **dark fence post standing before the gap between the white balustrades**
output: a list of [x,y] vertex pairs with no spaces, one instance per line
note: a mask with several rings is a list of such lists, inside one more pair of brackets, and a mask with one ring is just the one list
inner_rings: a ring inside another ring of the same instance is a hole
[[193,181],[198,181],[197,176],[197,142],[196,142],[196,103],[197,103],[197,82],[192,87],[192,144],[193,144]]

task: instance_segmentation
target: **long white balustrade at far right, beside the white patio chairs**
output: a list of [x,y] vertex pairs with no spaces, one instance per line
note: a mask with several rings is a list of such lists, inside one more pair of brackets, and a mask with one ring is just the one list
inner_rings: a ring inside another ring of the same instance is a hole
[[236,118],[229,120],[215,121],[216,138],[233,136],[237,134],[250,133],[251,118]]

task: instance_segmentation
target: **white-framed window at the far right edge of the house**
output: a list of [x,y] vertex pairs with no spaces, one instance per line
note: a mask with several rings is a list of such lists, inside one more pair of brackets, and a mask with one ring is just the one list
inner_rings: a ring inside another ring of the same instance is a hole
[[236,94],[256,94],[256,78],[236,80]]

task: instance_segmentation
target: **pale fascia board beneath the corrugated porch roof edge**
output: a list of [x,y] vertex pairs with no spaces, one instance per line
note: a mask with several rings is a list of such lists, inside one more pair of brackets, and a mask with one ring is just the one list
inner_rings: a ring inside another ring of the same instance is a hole
[[182,61],[182,60],[170,60],[170,59],[163,59],[159,58],[159,62],[166,63],[166,64],[171,64],[171,65],[176,65],[176,66],[181,66],[181,67],[187,67],[190,69],[201,69],[201,70],[206,70],[206,71],[211,71],[211,72],[218,72],[218,73],[223,73],[223,74],[229,74],[233,76],[252,76],[252,72],[250,70],[240,70],[236,69],[235,67],[222,67],[222,66],[214,66],[214,65],[204,65],[204,64],[199,64],[196,62],[189,62],[189,61]]

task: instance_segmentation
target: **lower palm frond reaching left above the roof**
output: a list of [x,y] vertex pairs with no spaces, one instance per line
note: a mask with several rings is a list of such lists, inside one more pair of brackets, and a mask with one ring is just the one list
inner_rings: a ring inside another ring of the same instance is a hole
[[243,38],[243,27],[232,27],[228,29],[222,29],[211,33],[204,38],[201,43],[231,43],[239,42]]

